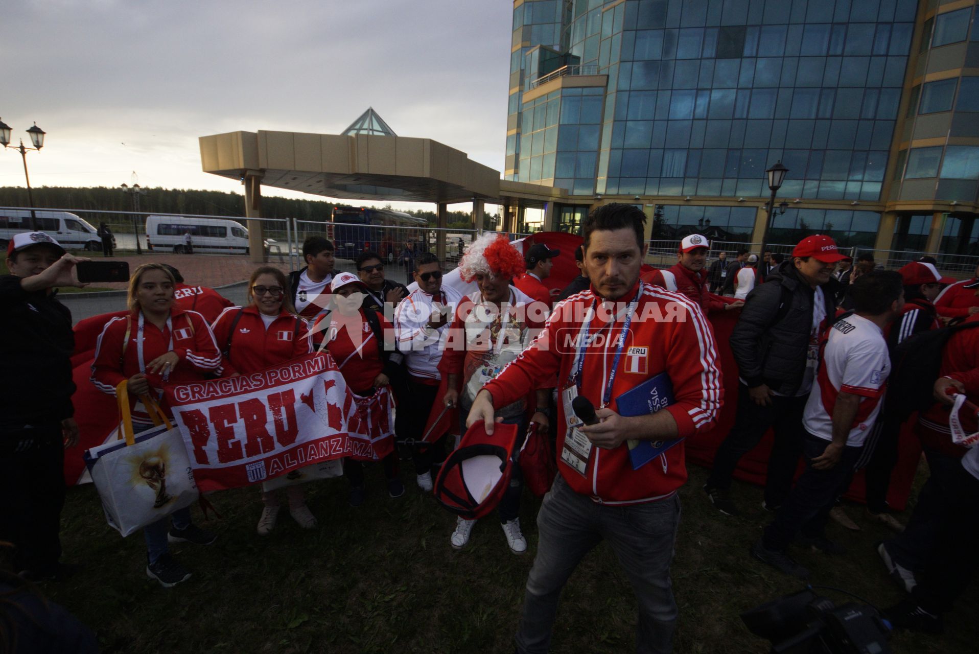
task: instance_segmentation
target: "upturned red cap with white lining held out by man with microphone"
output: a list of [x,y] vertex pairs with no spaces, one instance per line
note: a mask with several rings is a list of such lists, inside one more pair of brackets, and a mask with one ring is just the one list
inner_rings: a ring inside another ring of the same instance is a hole
[[496,423],[489,435],[483,421],[475,423],[445,458],[435,480],[435,498],[466,520],[482,518],[506,491],[518,456],[516,425]]

